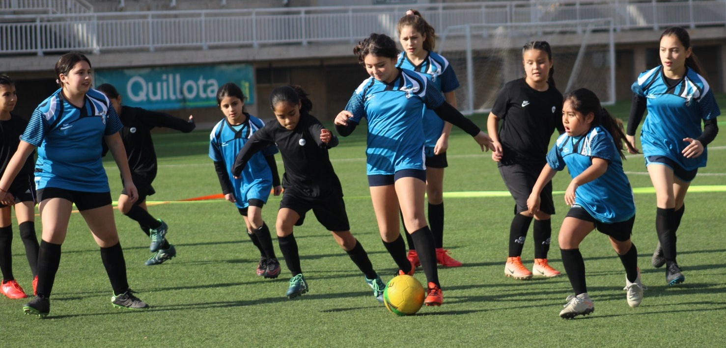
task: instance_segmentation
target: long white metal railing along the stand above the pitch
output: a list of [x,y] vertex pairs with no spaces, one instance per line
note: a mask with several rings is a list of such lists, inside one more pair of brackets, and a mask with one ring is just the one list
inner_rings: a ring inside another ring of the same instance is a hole
[[[8,1],[8,0],[4,0]],[[4,2],[2,1],[2,2]],[[11,0],[12,1],[12,0]],[[395,35],[410,7],[296,7],[0,16],[0,54],[208,49],[280,43],[357,42]],[[726,0],[492,1],[417,6],[434,28],[613,18],[616,31],[726,24]],[[603,28],[605,29],[605,28]]]

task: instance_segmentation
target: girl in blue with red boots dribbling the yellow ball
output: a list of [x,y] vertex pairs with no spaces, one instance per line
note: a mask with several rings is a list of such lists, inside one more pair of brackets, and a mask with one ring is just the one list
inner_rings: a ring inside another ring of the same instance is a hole
[[383,34],[371,34],[353,50],[371,76],[356,88],[346,109],[335,117],[335,129],[350,135],[362,118],[368,122],[367,174],[373,210],[383,244],[399,273],[413,274],[406,245],[399,231],[399,209],[412,236],[428,295],[424,303],[439,306],[444,298],[436,270],[436,244],[426,224],[423,199],[426,189],[422,112],[432,109],[442,119],[474,137],[482,151],[491,139],[444,101],[444,96],[425,75],[396,67],[399,50]]

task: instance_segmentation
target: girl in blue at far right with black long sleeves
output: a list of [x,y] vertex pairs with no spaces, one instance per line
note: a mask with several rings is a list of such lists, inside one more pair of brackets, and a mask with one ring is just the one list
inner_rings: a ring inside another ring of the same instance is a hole
[[[706,146],[716,138],[716,117],[721,112],[693,54],[688,31],[666,29],[659,52],[661,65],[640,74],[632,85],[627,138],[635,144],[635,130],[648,109],[640,144],[656,188],[658,247],[651,262],[655,268],[666,265],[666,283],[672,286],[685,281],[676,262],[676,231],[685,212],[683,199],[698,168],[706,167]],[[638,149],[630,147],[628,151],[636,153]]]

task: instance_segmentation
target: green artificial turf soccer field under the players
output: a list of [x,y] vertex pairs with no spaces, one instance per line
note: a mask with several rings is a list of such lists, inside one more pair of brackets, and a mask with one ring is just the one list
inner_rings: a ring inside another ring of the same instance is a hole
[[[725,109],[726,98],[719,97]],[[627,117],[629,104],[611,108]],[[221,116],[221,115],[220,115]],[[484,128],[484,117],[475,117]],[[726,123],[719,123],[721,128]],[[384,281],[396,265],[380,241],[365,176],[365,132],[340,139],[330,157],[343,183],[351,231]],[[163,265],[144,266],[149,239],[139,226],[115,213],[131,288],[150,310],[115,309],[111,288],[83,219],[73,214],[55,281],[50,315],[24,315],[25,299],[0,298],[0,339],[16,347],[722,347],[726,341],[726,135],[709,145],[709,166],[701,168],[686,196],[678,233],[679,263],[685,283],[666,286],[664,269],[650,265],[656,246],[656,196],[643,156],[629,156],[624,168],[635,189],[637,245],[643,283],[642,305],[625,299],[625,273],[607,237],[597,231],[581,245],[588,292],[595,312],[575,320],[558,313],[570,294],[566,276],[516,281],[505,278],[507,237],[513,199],[489,153],[454,130],[444,183],[444,247],[464,263],[439,268],[444,305],[423,307],[397,317],[372,296],[362,273],[310,212],[295,228],[303,273],[310,291],[287,299],[290,273],[280,278],[255,275],[258,252],[245,235],[233,204],[220,199],[179,202],[220,192],[208,131],[155,135],[159,155],[157,194],[150,212],[169,225],[177,256]],[[278,167],[282,162],[277,155]],[[121,186],[113,161],[106,162],[113,196]],[[569,175],[554,179],[557,214],[552,217],[550,265],[564,271],[556,235],[568,207],[562,191]],[[274,226],[279,197],[263,210]],[[15,224],[15,223],[14,223]],[[41,231],[40,220],[36,230]],[[17,231],[17,225],[14,226]],[[531,231],[529,236],[531,236]],[[277,246],[277,243],[274,243]],[[276,247],[278,257],[281,257]],[[530,239],[523,262],[534,259]],[[282,260],[281,260],[282,261]],[[30,270],[15,233],[17,281],[30,291]],[[423,270],[415,275],[424,281]]]

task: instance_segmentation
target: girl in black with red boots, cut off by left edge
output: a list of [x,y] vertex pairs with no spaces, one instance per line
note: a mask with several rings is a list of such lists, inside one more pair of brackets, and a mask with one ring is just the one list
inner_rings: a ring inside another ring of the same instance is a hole
[[[17,103],[15,82],[6,75],[0,75],[0,176],[20,144],[28,121],[12,115]],[[33,183],[33,159],[25,160],[23,169],[8,188],[7,196],[0,202],[0,270],[2,283],[0,292],[10,299],[28,297],[12,274],[12,218],[10,213],[15,206],[15,218],[20,229],[20,239],[25,244],[30,271],[33,273],[33,294],[38,286],[38,237],[36,236],[36,185]]]

